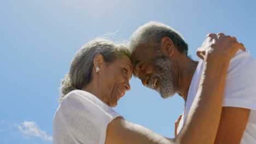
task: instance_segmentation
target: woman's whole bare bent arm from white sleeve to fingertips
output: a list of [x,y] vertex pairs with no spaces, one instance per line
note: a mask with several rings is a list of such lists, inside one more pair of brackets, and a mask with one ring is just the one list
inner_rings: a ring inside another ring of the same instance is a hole
[[197,51],[204,60],[204,68],[196,98],[185,119],[181,133],[175,139],[167,139],[147,128],[116,118],[109,123],[106,135],[108,143],[213,143],[217,134],[225,77],[230,59],[238,49],[244,49],[234,38],[224,34],[207,35]]

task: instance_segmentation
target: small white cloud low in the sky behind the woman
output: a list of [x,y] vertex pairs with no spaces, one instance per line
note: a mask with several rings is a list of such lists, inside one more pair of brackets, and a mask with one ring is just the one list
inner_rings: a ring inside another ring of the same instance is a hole
[[20,130],[21,134],[26,138],[30,138],[34,136],[34,137],[40,137],[41,139],[47,140],[47,141],[53,140],[53,137],[49,136],[46,133],[46,131],[40,130],[38,125],[35,122],[24,121],[18,124],[18,129]]

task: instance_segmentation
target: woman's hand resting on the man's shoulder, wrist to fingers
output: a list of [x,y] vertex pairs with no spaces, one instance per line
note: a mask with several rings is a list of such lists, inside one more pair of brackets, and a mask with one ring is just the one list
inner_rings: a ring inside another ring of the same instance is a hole
[[204,61],[212,59],[229,62],[239,49],[246,51],[245,46],[238,43],[235,37],[223,33],[211,33],[206,36],[202,46],[197,49],[196,55]]

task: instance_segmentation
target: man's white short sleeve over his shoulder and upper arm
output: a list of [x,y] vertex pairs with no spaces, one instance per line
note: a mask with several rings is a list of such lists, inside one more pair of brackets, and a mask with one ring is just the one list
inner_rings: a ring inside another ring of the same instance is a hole
[[223,106],[256,110],[256,59],[238,51],[226,76]]

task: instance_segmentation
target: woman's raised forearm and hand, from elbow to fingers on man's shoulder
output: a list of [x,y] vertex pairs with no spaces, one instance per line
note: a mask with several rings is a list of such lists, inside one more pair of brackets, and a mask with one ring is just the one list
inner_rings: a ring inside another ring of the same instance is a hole
[[197,51],[203,73],[196,97],[177,140],[181,143],[214,143],[217,134],[229,61],[245,47],[223,33],[209,34]]

